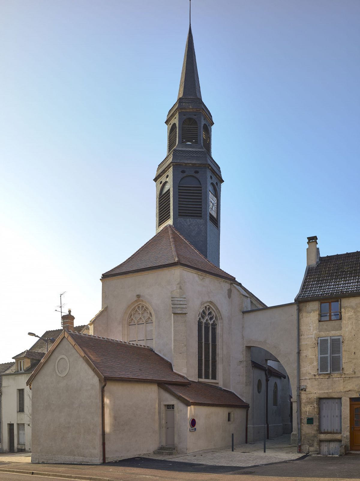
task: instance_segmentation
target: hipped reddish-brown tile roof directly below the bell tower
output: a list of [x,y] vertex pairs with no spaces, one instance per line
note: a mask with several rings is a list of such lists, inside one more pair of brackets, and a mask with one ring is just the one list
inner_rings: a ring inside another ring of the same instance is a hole
[[171,225],[162,228],[129,259],[105,272],[102,277],[115,277],[159,267],[186,266],[216,277],[235,281],[233,276],[212,264]]

